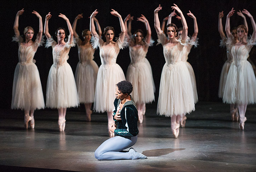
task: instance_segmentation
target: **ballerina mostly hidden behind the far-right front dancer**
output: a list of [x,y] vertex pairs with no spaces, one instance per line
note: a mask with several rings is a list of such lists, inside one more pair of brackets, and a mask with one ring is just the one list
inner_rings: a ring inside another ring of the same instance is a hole
[[[237,11],[237,14],[239,16],[241,16],[243,18],[243,23],[247,28],[248,31],[248,25],[247,25],[247,21],[246,21],[246,17],[245,15],[243,15],[243,13],[239,10]],[[229,71],[229,67],[233,61],[232,55],[231,55],[231,47],[228,46],[227,44],[227,37],[225,35],[225,33],[223,32],[223,26],[222,26],[222,18],[223,18],[224,14],[223,11],[219,12],[219,20],[218,20],[218,30],[219,30],[219,34],[221,35],[221,47],[226,46],[226,51],[227,51],[227,61],[224,63],[222,70],[221,70],[221,77],[219,80],[219,92],[218,92],[218,96],[219,98],[223,98],[223,92],[225,89],[225,85],[226,85],[226,80],[227,80],[227,75],[228,75],[228,71]],[[234,39],[234,42],[238,42],[238,37],[237,37],[237,30],[236,28],[233,28],[231,30],[231,34],[233,35],[232,39]],[[231,115],[231,120],[232,121],[238,121],[238,109],[237,109],[237,104],[231,104],[230,105],[230,115]]]

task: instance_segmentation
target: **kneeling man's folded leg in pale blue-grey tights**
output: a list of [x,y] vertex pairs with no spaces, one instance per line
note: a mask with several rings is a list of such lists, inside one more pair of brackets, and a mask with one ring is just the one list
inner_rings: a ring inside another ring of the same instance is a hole
[[130,152],[120,152],[134,145],[137,142],[135,137],[116,136],[103,142],[95,151],[94,156],[98,160],[132,159]]

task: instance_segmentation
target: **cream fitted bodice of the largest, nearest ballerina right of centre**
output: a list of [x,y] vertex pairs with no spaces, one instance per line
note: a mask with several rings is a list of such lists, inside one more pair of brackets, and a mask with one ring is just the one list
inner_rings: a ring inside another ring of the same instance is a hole
[[182,51],[179,51],[178,46],[167,47],[163,46],[163,56],[165,56],[165,62],[170,65],[181,61]]

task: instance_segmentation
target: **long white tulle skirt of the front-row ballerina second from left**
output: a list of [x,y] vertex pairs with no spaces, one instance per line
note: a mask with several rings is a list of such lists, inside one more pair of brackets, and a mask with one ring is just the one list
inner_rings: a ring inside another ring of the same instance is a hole
[[68,63],[60,67],[52,65],[46,89],[46,107],[70,108],[79,106],[76,82]]

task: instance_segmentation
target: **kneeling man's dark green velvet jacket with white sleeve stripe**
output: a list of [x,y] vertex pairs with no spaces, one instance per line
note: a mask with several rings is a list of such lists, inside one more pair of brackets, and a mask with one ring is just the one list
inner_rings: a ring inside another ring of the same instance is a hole
[[[131,96],[131,95],[129,95]],[[120,104],[120,99],[115,99],[114,106],[115,110],[113,113],[113,118],[117,112],[117,107]],[[117,129],[115,129],[115,135],[121,137],[136,136],[139,133],[138,130],[138,110],[135,102],[131,96],[131,101],[125,102],[122,110],[120,111],[120,116],[122,120],[115,120],[118,123]]]

